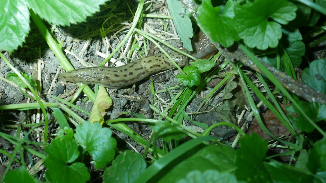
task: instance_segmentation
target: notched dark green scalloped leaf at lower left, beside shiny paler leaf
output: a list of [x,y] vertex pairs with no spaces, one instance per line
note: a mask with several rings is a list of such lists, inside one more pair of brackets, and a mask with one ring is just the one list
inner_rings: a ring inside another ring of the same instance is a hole
[[[61,136],[52,140],[51,144],[44,149],[48,158],[44,160],[47,168],[46,178],[53,183],[56,182],[86,182],[90,179],[85,164],[74,162],[80,152],[76,142],[71,136]],[[67,165],[67,163],[72,163]]]

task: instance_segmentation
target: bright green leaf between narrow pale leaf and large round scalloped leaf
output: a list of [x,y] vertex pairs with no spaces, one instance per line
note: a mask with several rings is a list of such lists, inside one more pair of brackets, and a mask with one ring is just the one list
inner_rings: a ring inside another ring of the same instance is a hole
[[[198,23],[204,32],[210,33],[212,39],[225,47],[233,45],[234,41],[240,40],[234,31],[232,19],[222,14],[221,7],[213,7],[211,0],[203,0],[198,7]],[[214,23],[212,22],[214,20]]]

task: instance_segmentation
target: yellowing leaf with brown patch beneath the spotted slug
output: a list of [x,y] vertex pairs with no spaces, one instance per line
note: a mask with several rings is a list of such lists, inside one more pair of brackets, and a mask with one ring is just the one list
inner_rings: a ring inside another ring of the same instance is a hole
[[102,125],[104,123],[103,116],[106,115],[105,110],[110,108],[111,105],[112,99],[108,92],[103,86],[99,86],[89,121],[91,123],[100,122]]

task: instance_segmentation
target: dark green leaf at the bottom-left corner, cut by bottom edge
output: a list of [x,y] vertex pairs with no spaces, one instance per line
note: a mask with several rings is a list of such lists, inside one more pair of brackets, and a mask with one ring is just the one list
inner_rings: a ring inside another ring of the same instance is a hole
[[22,182],[22,180],[24,180],[24,183],[40,182],[34,179],[31,175],[29,175],[28,171],[25,168],[17,168],[15,170],[8,172],[4,182],[17,183],[17,182]]

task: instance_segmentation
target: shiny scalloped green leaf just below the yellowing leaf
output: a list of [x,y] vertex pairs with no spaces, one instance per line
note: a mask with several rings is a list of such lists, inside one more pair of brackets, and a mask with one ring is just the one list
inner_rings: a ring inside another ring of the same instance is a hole
[[84,151],[93,157],[96,168],[103,168],[114,157],[117,141],[111,137],[109,128],[101,128],[100,123],[88,121],[76,128],[75,139],[80,143]]

